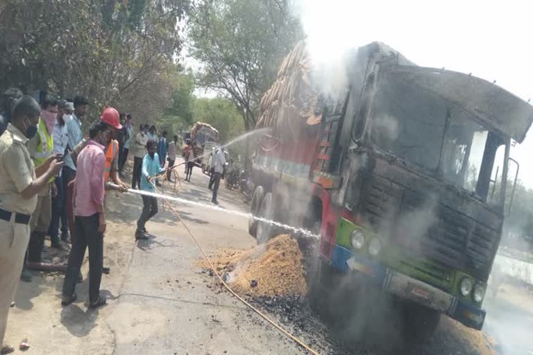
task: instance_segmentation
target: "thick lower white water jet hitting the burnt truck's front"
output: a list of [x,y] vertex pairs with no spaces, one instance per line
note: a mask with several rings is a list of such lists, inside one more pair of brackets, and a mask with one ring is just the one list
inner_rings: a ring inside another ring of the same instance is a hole
[[[118,188],[119,186],[115,185],[115,184],[110,184],[110,187]],[[144,195],[144,196],[151,196],[151,197],[155,197],[155,198],[162,198],[164,200],[169,200],[169,201],[174,201],[174,202],[181,202],[181,203],[183,203],[185,205],[202,207],[202,208],[205,208],[205,209],[212,209],[214,211],[224,212],[226,214],[233,214],[235,216],[241,216],[241,217],[245,217],[245,218],[253,218],[254,220],[257,220],[257,221],[260,221],[260,222],[263,222],[263,223],[268,223],[269,225],[275,225],[276,227],[280,227],[280,228],[282,228],[284,230],[289,230],[289,231],[294,232],[294,233],[296,233],[296,234],[298,234],[300,236],[305,236],[307,238],[319,239],[319,236],[314,234],[310,230],[305,230],[303,228],[293,227],[291,225],[286,225],[286,224],[283,224],[283,223],[279,223],[279,222],[276,222],[275,220],[269,220],[267,218],[253,216],[253,214],[242,212],[242,211],[236,211],[234,209],[225,209],[225,208],[219,207],[217,205],[210,205],[208,203],[187,200],[185,198],[179,198],[179,197],[175,197],[175,196],[169,196],[169,195],[164,195],[162,193],[155,193],[155,192],[150,192],[150,191],[128,189],[128,192],[129,193],[136,193],[137,195]]]

